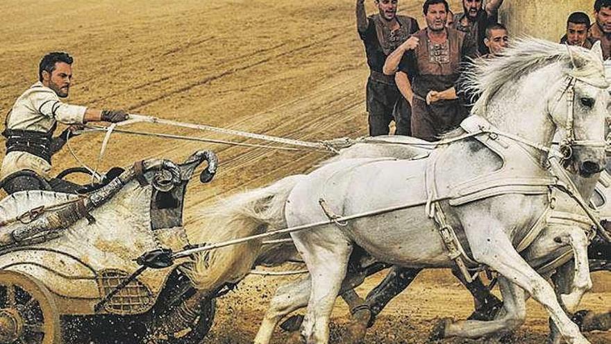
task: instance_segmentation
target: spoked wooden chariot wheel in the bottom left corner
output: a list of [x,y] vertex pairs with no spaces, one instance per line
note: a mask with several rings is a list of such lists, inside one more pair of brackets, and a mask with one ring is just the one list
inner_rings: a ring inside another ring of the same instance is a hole
[[0,271],[0,344],[62,343],[53,295],[22,272]]

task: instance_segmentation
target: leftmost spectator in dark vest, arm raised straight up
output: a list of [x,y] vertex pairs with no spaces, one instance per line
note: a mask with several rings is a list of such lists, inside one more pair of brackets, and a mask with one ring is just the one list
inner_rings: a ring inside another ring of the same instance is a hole
[[374,0],[378,12],[367,17],[365,0],[356,0],[358,33],[367,54],[369,79],[367,80],[367,112],[369,135],[387,135],[394,120],[397,135],[410,135],[411,109],[394,81],[394,76],[383,74],[382,67],[388,54],[407,42],[415,47],[417,41],[408,39],[418,31],[418,22],[412,17],[396,15],[397,0]]

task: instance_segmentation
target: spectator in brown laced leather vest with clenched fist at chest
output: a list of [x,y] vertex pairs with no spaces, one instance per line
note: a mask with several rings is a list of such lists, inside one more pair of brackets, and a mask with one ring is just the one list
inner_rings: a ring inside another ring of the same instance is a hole
[[413,35],[418,39],[417,47],[396,49],[386,59],[384,72],[390,74],[399,68],[409,76],[405,92],[412,105],[412,136],[434,141],[467,117],[454,84],[460,63],[476,56],[477,49],[465,33],[446,28],[446,0],[426,0],[423,10],[427,27]]

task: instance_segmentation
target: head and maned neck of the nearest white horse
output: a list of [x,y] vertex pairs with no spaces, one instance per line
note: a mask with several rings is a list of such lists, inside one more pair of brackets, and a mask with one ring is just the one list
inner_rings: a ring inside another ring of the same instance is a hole
[[472,112],[546,147],[560,131],[566,165],[592,176],[605,165],[609,83],[601,56],[600,44],[587,50],[518,40],[503,56],[478,61],[470,73],[467,87],[480,94]]

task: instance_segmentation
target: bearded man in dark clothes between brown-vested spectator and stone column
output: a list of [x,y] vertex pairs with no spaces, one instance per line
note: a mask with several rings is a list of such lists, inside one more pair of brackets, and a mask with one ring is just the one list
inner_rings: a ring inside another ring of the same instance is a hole
[[483,0],[462,0],[463,13],[454,15],[453,28],[467,33],[476,42],[480,55],[488,53],[484,32],[489,24],[499,22],[499,8],[502,4],[503,0],[488,0],[485,6]]

